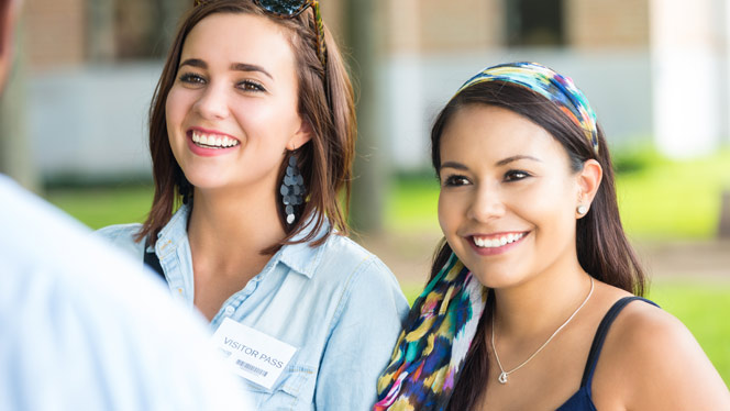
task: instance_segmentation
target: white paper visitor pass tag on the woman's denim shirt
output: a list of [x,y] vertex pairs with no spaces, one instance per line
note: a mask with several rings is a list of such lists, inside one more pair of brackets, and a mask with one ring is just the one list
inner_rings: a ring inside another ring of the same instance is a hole
[[213,334],[213,343],[241,377],[270,389],[297,348],[229,318]]

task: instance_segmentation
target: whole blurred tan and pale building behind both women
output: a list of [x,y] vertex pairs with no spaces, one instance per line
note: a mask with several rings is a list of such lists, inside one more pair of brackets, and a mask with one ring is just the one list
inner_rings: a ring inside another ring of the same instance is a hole
[[[378,53],[368,84],[380,100],[374,144],[397,170],[428,167],[439,108],[477,70],[509,60],[573,77],[613,145],[653,141],[688,156],[730,135],[728,0],[369,1]],[[339,37],[347,24],[342,2],[322,1]],[[15,73],[26,90],[3,110],[23,124],[3,134],[31,143],[3,143],[0,168],[30,156],[35,171],[18,173],[43,180],[148,174],[148,103],[189,3],[27,0]]]

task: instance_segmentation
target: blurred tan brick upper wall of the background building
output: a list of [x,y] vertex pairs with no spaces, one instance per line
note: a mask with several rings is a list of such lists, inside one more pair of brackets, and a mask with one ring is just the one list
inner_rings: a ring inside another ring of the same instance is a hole
[[[26,0],[26,46],[31,69],[78,65],[85,58],[87,0]],[[649,0],[565,0],[568,45],[577,48],[646,47]],[[407,0],[386,2],[391,52],[460,52],[504,43],[504,0]],[[342,4],[323,7],[329,25],[342,41]]]

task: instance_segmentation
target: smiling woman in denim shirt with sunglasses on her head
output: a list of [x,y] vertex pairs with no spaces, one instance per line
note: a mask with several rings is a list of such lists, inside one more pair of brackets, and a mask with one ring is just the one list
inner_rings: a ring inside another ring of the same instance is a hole
[[150,112],[150,215],[101,235],[211,321],[256,410],[376,400],[408,303],[345,236],[354,144],[351,82],[317,1],[196,2]]

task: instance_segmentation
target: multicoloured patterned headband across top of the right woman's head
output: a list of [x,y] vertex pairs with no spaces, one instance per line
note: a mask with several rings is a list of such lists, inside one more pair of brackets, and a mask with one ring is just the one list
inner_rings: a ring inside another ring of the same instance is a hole
[[554,102],[561,111],[583,129],[594,152],[598,153],[596,113],[588,104],[588,99],[575,87],[569,77],[562,76],[537,63],[501,64],[485,68],[472,77],[456,91],[454,97],[468,87],[487,81],[506,81],[522,86]]

